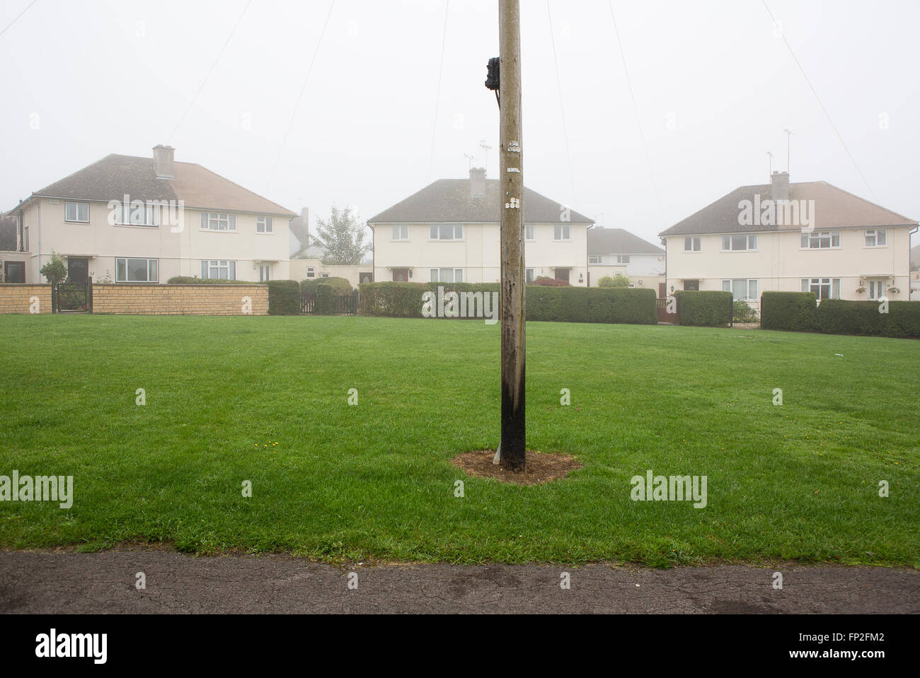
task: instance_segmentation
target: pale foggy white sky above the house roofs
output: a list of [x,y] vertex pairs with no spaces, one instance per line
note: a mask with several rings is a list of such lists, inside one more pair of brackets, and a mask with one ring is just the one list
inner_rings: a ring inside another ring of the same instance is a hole
[[[0,2],[0,30],[28,4]],[[339,0],[299,107],[329,1],[253,0],[211,71],[245,4],[30,7],[0,36],[0,209],[157,143],[308,207],[311,221],[333,202],[367,219],[434,179],[464,177],[464,153],[484,161],[480,140],[498,176],[498,107],[483,86],[499,51],[494,0],[451,0],[438,101],[444,0]],[[544,0],[523,0],[524,183],[658,243],[731,189],[766,183],[768,151],[785,170],[788,128],[791,181],[824,180],[920,218],[920,2],[767,5],[875,198],[761,0],[616,0],[639,120],[606,0],[550,0],[552,23]]]

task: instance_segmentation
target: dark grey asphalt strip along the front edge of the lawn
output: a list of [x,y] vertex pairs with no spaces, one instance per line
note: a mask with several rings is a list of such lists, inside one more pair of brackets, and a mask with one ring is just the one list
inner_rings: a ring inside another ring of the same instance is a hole
[[[774,588],[774,572],[783,588]],[[145,588],[136,587],[144,572]],[[355,583],[356,588],[350,588]],[[570,588],[561,574],[568,572]],[[355,565],[287,555],[0,551],[0,613],[913,613],[920,571]]]

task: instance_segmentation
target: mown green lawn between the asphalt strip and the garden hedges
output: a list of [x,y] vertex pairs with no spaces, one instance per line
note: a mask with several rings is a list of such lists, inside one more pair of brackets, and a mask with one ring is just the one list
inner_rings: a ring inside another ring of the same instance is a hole
[[[920,566],[918,342],[529,323],[528,447],[583,468],[521,487],[450,464],[498,443],[498,325],[6,316],[0,329],[0,474],[75,480],[69,510],[0,503],[2,548]],[[707,507],[631,501],[647,469],[706,475]]]

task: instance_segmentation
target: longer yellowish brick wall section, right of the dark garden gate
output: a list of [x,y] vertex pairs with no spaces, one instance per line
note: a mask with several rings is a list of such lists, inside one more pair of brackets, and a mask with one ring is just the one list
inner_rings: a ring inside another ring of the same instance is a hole
[[[245,307],[246,298],[251,311]],[[121,315],[268,315],[269,288],[265,285],[95,284],[93,312]]]

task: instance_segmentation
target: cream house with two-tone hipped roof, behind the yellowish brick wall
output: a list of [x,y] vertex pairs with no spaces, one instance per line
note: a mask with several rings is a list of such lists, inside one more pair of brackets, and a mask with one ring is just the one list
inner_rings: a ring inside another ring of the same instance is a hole
[[11,209],[17,252],[4,256],[22,262],[21,281],[43,282],[52,252],[74,281],[289,277],[294,213],[173,153],[159,145],[152,158],[107,155]]

